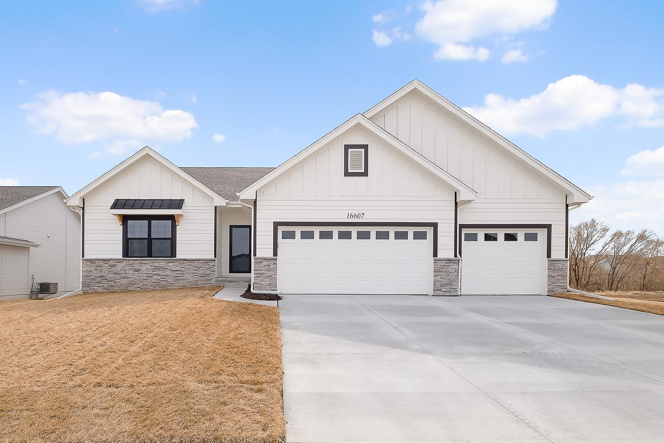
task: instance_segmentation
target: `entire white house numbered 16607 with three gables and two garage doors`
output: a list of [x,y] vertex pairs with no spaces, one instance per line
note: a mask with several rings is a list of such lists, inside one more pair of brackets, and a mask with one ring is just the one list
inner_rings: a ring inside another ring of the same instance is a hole
[[276,169],[145,147],[68,199],[83,290],[547,294],[590,195],[414,80]]

